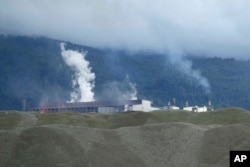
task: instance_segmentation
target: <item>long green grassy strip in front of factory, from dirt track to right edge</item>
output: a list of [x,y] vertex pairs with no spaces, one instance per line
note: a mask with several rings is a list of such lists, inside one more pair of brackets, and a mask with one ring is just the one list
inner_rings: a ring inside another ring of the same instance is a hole
[[241,108],[225,108],[204,113],[160,110],[149,113],[130,111],[116,114],[36,113],[35,116],[37,117],[37,125],[63,124],[104,129],[169,122],[197,125],[250,123],[250,113]]

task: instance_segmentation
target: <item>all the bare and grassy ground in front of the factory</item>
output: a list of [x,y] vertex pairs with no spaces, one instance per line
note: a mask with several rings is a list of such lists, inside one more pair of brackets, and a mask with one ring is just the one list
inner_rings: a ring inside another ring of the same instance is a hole
[[[12,120],[13,119],[13,120]],[[228,167],[250,149],[250,113],[0,112],[1,167]]]

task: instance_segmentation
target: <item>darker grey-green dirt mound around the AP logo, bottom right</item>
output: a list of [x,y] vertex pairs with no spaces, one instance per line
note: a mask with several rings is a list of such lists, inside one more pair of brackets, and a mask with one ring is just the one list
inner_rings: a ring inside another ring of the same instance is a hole
[[250,150],[250,124],[233,124],[210,129],[201,140],[201,167],[228,167],[230,150]]

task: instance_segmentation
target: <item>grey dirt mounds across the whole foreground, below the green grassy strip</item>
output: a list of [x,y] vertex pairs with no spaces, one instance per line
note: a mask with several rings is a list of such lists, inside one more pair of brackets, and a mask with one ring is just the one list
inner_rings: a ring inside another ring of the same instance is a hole
[[162,123],[118,129],[46,125],[0,131],[1,167],[227,167],[250,125]]

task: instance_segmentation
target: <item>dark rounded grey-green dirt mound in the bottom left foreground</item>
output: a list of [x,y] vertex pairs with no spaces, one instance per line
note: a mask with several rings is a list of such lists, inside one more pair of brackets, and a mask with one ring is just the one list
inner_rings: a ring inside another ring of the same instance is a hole
[[23,131],[14,145],[10,167],[54,167],[88,164],[84,149],[79,142],[63,130],[35,127]]

